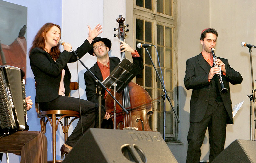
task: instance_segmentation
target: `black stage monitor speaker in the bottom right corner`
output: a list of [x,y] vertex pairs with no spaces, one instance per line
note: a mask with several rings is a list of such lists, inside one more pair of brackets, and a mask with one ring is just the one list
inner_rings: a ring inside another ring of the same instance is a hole
[[256,163],[256,141],[235,140],[212,163]]

